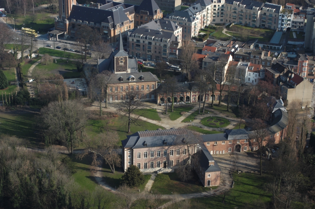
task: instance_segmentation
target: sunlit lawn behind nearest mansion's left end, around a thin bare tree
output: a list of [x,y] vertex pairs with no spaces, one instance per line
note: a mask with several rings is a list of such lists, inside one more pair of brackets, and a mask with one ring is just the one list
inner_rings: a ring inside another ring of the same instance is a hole
[[[104,111],[103,111],[103,114]],[[138,132],[138,131],[145,131],[145,130],[157,130],[157,128],[162,128],[162,126],[157,126],[153,123],[149,123],[146,121],[141,121],[141,126],[136,126],[134,124],[131,124],[130,130],[131,133],[127,133],[128,126],[126,126],[126,121],[128,120],[127,117],[112,117],[110,124],[108,124],[108,128],[112,131],[117,131],[120,140],[124,140],[127,138],[127,135],[131,135],[132,133]],[[101,133],[103,131],[106,131],[106,121],[105,120],[88,120],[87,126],[85,128],[87,134],[89,136],[95,136],[98,133]],[[122,145],[119,143],[119,145]]]

